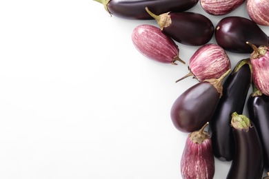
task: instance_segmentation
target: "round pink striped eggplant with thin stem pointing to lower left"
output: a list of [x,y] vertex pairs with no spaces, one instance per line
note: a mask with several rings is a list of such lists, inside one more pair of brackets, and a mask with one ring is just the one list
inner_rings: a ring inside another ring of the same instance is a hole
[[188,76],[194,76],[198,81],[204,81],[210,78],[219,78],[230,69],[230,59],[221,46],[208,43],[202,45],[189,61],[189,73],[178,81]]

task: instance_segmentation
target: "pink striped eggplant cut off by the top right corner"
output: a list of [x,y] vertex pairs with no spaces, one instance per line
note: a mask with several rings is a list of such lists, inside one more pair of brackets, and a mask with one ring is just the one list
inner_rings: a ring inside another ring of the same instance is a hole
[[247,0],[246,10],[250,19],[259,25],[269,26],[269,1]]

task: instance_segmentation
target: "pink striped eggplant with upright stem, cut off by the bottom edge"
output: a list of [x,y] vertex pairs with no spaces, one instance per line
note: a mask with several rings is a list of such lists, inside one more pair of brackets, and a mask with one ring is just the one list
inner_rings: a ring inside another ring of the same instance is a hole
[[199,131],[194,131],[188,135],[181,156],[180,166],[183,179],[212,179],[214,177],[215,160],[210,135],[204,131],[206,125]]

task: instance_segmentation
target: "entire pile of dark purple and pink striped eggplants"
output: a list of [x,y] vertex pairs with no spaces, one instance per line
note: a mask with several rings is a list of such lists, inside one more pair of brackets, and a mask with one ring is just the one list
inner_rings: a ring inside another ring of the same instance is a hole
[[[138,25],[132,43],[148,59],[178,65],[179,44],[197,46],[188,76],[197,84],[171,105],[172,124],[189,133],[181,156],[182,178],[215,176],[215,158],[232,161],[226,178],[262,178],[269,172],[269,1],[255,0],[95,0],[111,16],[157,21]],[[197,4],[214,16],[246,3],[249,19],[222,18],[216,26],[203,14],[188,12]],[[212,38],[215,43],[209,43]],[[226,52],[248,54],[231,67]],[[250,94],[250,95],[248,95]],[[243,114],[246,107],[247,114]],[[208,127],[208,131],[206,131]]]

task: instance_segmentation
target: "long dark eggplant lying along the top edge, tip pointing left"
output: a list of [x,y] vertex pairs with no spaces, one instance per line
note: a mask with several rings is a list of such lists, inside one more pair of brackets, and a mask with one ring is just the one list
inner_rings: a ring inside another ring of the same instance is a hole
[[145,8],[155,14],[183,12],[197,5],[199,0],[94,0],[103,3],[106,11],[123,19],[153,19]]

